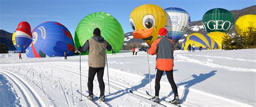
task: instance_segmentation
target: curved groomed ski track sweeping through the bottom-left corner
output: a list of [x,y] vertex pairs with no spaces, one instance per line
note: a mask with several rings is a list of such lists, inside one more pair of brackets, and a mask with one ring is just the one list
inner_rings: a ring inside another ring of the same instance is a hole
[[46,106],[41,97],[37,94],[37,92],[31,87],[31,85],[19,77],[18,75],[5,70],[0,69],[0,72],[8,76],[11,80],[17,84],[17,87],[21,88],[21,91],[24,93],[26,98],[25,100],[28,101],[30,106]]

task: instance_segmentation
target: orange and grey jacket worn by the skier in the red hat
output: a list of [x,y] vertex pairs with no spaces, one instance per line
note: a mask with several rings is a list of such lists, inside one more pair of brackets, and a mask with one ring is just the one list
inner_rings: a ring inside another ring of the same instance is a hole
[[165,35],[163,35],[158,37],[158,39],[153,42],[151,48],[147,53],[151,55],[156,54],[156,68],[167,72],[172,70],[174,66],[173,52],[173,41],[171,39],[168,39]]

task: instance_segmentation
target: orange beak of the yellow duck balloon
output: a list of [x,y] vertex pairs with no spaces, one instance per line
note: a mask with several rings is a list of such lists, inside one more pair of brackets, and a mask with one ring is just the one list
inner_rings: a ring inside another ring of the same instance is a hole
[[[154,29],[153,28],[150,28],[148,30],[144,30],[144,29],[140,29],[140,30],[137,30],[137,31],[134,31],[132,33],[133,37],[136,38],[136,39],[145,39],[146,40],[151,40],[152,39],[152,33],[153,33]],[[150,39],[151,38],[151,39]]]

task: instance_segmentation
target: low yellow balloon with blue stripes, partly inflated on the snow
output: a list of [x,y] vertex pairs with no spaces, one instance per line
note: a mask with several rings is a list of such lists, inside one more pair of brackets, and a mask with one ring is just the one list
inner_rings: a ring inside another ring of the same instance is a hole
[[185,40],[183,41],[182,44],[182,50],[186,51],[188,50],[188,45],[189,44],[194,44],[195,49],[199,50],[199,46],[202,46],[202,49],[217,49],[218,44],[215,42],[212,38],[210,38],[206,34],[201,34],[201,33],[192,33],[188,35]]

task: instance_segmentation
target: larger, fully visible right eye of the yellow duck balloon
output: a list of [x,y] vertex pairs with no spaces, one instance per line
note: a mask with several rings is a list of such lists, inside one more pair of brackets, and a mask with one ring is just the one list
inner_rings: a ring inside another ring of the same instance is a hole
[[142,19],[142,24],[147,29],[153,28],[156,24],[156,19],[152,15],[146,15]]

